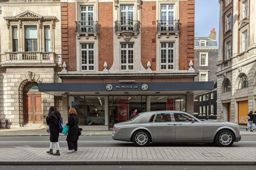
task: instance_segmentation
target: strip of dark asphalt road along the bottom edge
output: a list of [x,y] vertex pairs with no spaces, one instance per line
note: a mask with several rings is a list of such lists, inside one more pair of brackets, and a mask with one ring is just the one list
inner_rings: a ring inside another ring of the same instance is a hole
[[255,166],[1,166],[1,170],[255,170]]

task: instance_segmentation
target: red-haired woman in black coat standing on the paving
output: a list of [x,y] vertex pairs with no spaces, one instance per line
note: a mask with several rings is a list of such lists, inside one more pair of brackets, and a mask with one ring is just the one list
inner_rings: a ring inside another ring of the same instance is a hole
[[78,140],[78,116],[75,108],[71,108],[69,110],[69,118],[68,123],[66,124],[69,126],[69,131],[67,135],[67,143],[69,151],[67,153],[73,153],[77,151],[77,140]]

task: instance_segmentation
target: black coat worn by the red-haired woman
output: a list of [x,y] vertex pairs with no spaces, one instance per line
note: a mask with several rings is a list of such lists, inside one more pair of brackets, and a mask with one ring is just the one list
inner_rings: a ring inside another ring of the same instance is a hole
[[69,131],[66,141],[77,141],[78,140],[78,116],[74,114],[69,115],[68,123]]

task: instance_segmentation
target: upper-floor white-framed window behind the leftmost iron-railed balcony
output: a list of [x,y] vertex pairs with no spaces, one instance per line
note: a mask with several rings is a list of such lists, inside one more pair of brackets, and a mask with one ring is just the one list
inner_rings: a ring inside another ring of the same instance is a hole
[[94,24],[93,24],[94,7],[93,6],[81,6],[80,9],[81,9],[80,10],[81,31],[82,32],[94,31]]

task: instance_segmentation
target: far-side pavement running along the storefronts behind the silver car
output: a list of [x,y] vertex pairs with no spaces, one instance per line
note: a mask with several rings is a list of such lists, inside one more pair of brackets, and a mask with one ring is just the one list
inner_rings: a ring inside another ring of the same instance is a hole
[[[47,129],[0,129],[0,136],[50,136]],[[241,135],[256,135],[256,131],[245,131],[240,128]],[[87,130],[82,131],[82,135],[112,135],[112,130]],[[60,133],[60,136],[64,136]]]

